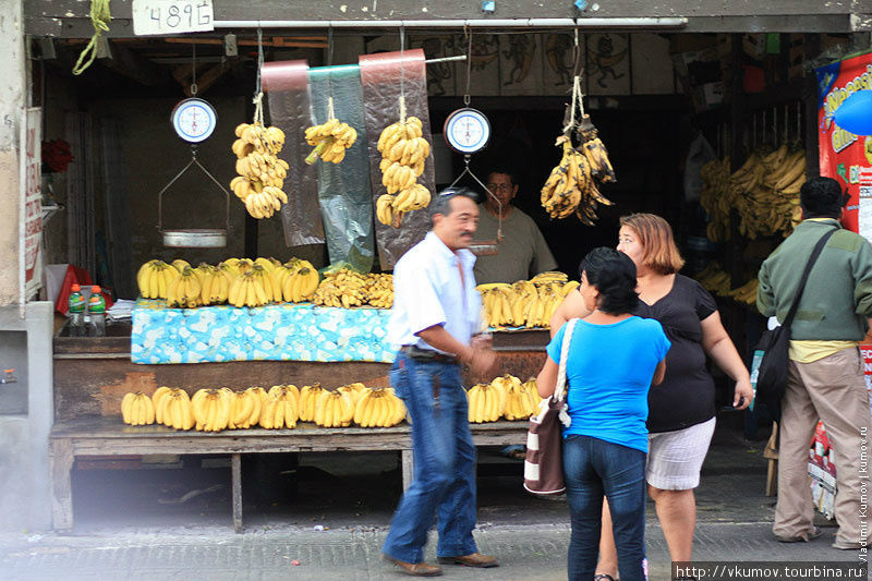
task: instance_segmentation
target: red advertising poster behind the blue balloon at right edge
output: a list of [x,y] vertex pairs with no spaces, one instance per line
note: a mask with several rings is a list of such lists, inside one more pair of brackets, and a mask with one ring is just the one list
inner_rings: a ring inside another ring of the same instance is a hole
[[821,175],[838,180],[850,194],[843,223],[872,242],[872,135],[853,135],[833,116],[858,90],[872,89],[872,52],[816,70]]

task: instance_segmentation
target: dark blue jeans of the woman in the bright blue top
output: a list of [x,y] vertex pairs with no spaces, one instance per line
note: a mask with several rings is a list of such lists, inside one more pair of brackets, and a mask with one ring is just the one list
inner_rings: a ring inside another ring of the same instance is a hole
[[590,436],[564,440],[566,497],[572,522],[569,579],[593,579],[600,553],[603,495],[611,511],[621,581],[647,579],[645,452]]

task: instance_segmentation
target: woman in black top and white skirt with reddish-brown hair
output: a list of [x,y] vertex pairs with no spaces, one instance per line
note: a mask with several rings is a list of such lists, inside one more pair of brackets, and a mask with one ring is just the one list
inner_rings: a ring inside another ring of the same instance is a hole
[[[738,410],[751,403],[751,379],[712,295],[678,274],[683,261],[669,223],[653,214],[625,216],[620,223],[618,250],[637,266],[641,301],[634,314],[657,319],[673,343],[666,378],[649,392],[646,479],[671,560],[689,561],[697,520],[693,488],[714,432],[715,387],[705,355],[736,382],[732,406]],[[569,318],[585,315],[579,293],[569,293],[552,317],[552,334]],[[613,580],[617,573],[610,529],[605,507],[596,580]]]

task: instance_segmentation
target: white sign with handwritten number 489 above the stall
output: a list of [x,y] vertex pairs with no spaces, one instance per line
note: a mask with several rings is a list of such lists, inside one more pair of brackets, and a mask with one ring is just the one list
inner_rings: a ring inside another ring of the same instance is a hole
[[133,0],[133,33],[201,33],[215,29],[211,0]]

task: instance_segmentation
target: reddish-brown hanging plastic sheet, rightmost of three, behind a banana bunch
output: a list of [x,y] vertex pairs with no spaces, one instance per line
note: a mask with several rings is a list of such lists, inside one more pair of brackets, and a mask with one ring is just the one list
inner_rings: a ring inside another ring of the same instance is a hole
[[[371,206],[387,190],[382,185],[382,156],[376,148],[382,130],[400,119],[400,86],[405,95],[405,114],[421,119],[424,137],[433,143],[427,107],[427,77],[424,51],[421,49],[401,52],[361,55],[361,82],[366,119],[366,138],[370,142],[370,180],[372,183]],[[402,83],[400,82],[402,75]],[[427,158],[424,173],[419,178],[435,195],[433,173],[433,149]],[[400,256],[416,244],[431,226],[429,210],[421,209],[405,215],[401,228],[391,228],[380,222],[375,225],[378,258],[384,270],[390,270]]]

